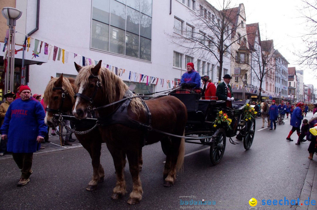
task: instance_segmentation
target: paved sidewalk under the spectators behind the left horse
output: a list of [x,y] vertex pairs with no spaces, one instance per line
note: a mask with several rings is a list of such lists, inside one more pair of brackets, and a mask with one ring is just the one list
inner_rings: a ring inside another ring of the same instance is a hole
[[[51,134],[52,129],[49,130],[49,134]],[[63,133],[66,133],[66,129],[63,129]],[[75,134],[72,135],[73,139],[76,139]],[[65,139],[65,137],[64,137]],[[78,148],[82,147],[81,143],[76,139],[74,142],[70,142],[72,146],[61,146],[61,141],[58,135],[56,136],[49,136],[49,141],[51,143],[45,143],[41,144],[41,146],[45,147],[45,149],[39,150],[34,152],[34,154],[41,154],[41,153],[46,153],[46,152],[53,152],[53,151],[60,151],[60,150],[68,150],[68,149],[73,149],[73,148]],[[2,157],[0,157],[0,160],[7,159],[7,158],[12,158],[11,153],[4,153]]]

